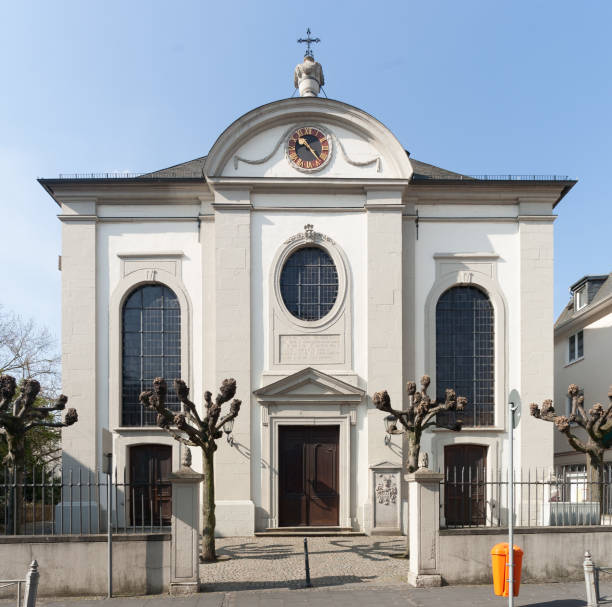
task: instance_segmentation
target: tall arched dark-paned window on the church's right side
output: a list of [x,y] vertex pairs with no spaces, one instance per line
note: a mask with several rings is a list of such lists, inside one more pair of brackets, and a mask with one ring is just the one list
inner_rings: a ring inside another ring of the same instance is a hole
[[468,399],[455,415],[464,426],[495,423],[493,306],[476,287],[452,287],[436,306],[436,392],[454,388]]

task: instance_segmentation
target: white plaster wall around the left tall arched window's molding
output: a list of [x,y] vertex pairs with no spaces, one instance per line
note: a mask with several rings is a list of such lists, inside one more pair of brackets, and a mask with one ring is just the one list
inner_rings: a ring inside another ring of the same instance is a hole
[[[156,210],[157,212],[157,210]],[[160,208],[160,214],[168,213],[168,207]],[[151,223],[100,223],[97,235],[97,307],[98,307],[98,426],[109,425],[109,370],[110,364],[120,364],[109,360],[109,304],[110,298],[121,280],[121,260],[119,253],[141,253],[182,251],[182,282],[191,301],[191,335],[189,339],[191,369],[191,395],[197,404],[203,392],[202,377],[202,279],[201,254],[198,242],[197,222],[151,222]],[[181,322],[186,319],[182,318]],[[183,370],[183,374],[185,370]],[[112,428],[111,428],[112,430]],[[148,442],[155,442],[157,435],[150,434]],[[144,437],[143,437],[143,442]],[[166,442],[166,441],[160,441]],[[173,441],[174,447],[178,443]],[[117,454],[120,458],[125,454]],[[193,451],[194,464],[199,468],[199,454]],[[177,461],[177,458],[174,458]],[[117,460],[120,462],[120,460]],[[125,460],[124,460],[125,461]]]

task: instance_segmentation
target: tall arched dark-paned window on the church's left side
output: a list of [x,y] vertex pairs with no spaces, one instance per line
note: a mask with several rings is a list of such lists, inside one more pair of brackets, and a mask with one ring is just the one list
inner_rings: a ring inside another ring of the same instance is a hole
[[156,414],[145,410],[138,396],[156,377],[168,382],[168,408],[180,410],[172,388],[181,376],[181,309],[175,293],[160,284],[138,287],[123,305],[122,327],[122,425],[155,425]]

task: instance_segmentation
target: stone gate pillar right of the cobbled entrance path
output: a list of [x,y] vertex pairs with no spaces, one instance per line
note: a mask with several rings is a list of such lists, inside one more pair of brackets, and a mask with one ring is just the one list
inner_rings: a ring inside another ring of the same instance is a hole
[[410,568],[408,583],[423,588],[441,586],[440,575],[440,481],[442,474],[420,468],[406,474],[408,482],[408,529]]

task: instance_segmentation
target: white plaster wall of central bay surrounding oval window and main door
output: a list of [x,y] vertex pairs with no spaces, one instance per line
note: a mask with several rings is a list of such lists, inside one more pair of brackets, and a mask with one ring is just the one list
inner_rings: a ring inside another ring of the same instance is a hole
[[[291,197],[293,200],[294,197]],[[258,200],[266,204],[265,197]],[[310,197],[312,203],[313,197]],[[358,204],[355,197],[354,204]],[[350,197],[345,202],[351,203]],[[299,213],[287,211],[253,212],[251,223],[251,294],[252,294],[252,385],[257,389],[264,385],[262,373],[270,360],[269,348],[269,292],[271,264],[277,250],[284,241],[298,232],[304,225],[312,223],[317,232],[332,238],[340,246],[348,260],[349,287],[352,290],[352,334],[353,370],[367,382],[367,285],[366,285],[366,222],[365,213]],[[324,366],[318,367],[327,372]],[[330,371],[332,375],[338,375]],[[340,377],[341,378],[341,377]],[[359,387],[365,388],[365,385]],[[357,479],[357,507],[367,501],[367,438],[365,427],[365,408],[357,408],[357,424],[352,426],[352,450],[357,458],[355,470]],[[253,412],[253,428],[261,428],[261,411],[257,406]],[[254,431],[252,436],[252,478],[261,476],[261,432]],[[253,483],[253,501],[262,503],[261,485]],[[355,515],[352,513],[352,515]]]

